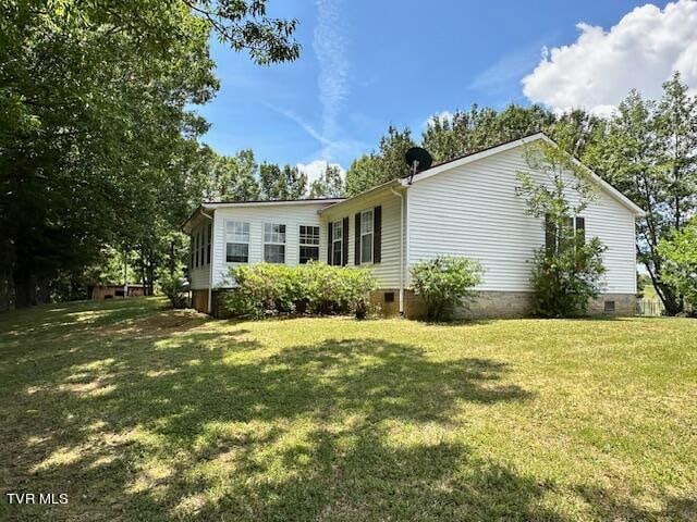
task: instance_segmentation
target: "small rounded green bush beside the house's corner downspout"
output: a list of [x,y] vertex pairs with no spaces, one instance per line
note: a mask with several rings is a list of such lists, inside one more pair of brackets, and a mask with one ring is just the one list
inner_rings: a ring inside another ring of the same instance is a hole
[[473,297],[484,270],[467,258],[440,256],[412,266],[412,286],[426,303],[429,321],[449,319],[463,299]]

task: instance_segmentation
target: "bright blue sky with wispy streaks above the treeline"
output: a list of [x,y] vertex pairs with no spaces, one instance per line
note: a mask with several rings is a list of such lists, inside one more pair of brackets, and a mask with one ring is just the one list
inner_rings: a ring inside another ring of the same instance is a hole
[[[376,147],[389,124],[407,125],[418,137],[430,115],[472,103],[503,108],[536,98],[560,110],[565,104],[612,105],[619,92],[628,90],[625,76],[632,72],[616,72],[607,62],[624,63],[626,52],[634,57],[641,51],[631,48],[643,45],[637,30],[658,24],[665,34],[651,52],[664,42],[667,63],[640,78],[649,91],[660,88],[667,67],[692,57],[669,41],[674,26],[688,21],[683,22],[686,15],[681,12],[669,18],[661,11],[665,2],[623,21],[644,3],[270,0],[270,14],[298,18],[302,55],[292,63],[259,66],[246,54],[213,44],[221,89],[198,109],[212,124],[204,141],[221,153],[252,148],[259,160],[322,160],[347,169]],[[617,24],[617,30],[611,30]],[[697,41],[692,28],[680,28],[690,32],[686,46]],[[629,46],[622,50],[624,59],[617,54],[617,38]],[[609,58],[596,67],[594,59],[603,52]],[[524,91],[522,79],[543,58],[548,66]],[[632,65],[641,66],[640,61]],[[587,74],[592,78],[606,76],[602,67],[610,67],[617,74],[611,87],[622,84],[617,92],[570,76],[586,74],[586,67],[591,67]],[[579,91],[578,85],[587,87]]]

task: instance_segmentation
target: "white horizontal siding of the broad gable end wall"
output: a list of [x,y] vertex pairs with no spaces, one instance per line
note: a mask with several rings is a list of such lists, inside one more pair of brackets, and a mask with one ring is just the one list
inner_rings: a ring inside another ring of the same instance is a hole
[[[517,147],[415,182],[408,190],[408,262],[467,256],[486,269],[478,289],[529,290],[529,260],[545,245],[545,231],[515,194],[516,173],[529,171],[522,151]],[[582,215],[586,238],[597,236],[608,247],[606,291],[635,293],[634,214],[598,188],[598,199]]]

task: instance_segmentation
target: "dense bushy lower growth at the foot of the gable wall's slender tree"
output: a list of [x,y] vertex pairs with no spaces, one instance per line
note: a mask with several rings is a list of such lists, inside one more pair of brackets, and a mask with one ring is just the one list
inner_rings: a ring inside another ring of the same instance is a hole
[[553,253],[540,248],[533,259],[534,313],[542,318],[582,315],[602,290],[602,252],[597,237]]

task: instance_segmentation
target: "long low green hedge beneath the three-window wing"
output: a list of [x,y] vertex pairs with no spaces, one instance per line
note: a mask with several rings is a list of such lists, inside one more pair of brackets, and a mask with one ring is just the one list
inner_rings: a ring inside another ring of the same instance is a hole
[[348,313],[375,288],[368,269],[311,262],[298,266],[253,264],[232,268],[234,289],[221,299],[234,315]]

